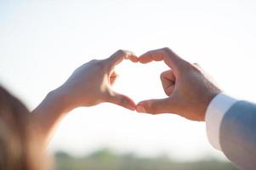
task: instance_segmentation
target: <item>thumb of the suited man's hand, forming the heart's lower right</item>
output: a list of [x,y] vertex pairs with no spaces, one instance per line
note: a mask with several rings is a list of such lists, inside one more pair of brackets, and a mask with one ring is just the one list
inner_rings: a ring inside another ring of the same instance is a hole
[[169,98],[149,99],[139,102],[136,106],[136,111],[151,114],[168,113],[170,112],[169,105],[171,105]]

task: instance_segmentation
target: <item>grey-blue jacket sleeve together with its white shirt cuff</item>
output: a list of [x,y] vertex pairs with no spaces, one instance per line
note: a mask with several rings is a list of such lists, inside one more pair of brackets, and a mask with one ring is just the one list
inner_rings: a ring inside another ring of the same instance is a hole
[[[230,102],[227,102],[229,99]],[[218,132],[217,135],[215,132],[216,138],[214,140],[217,141],[217,145],[219,144],[219,150],[222,150],[225,156],[237,167],[244,170],[256,169],[256,105],[247,101],[238,101],[225,95],[222,96],[222,99],[217,98],[217,100],[221,101],[221,104],[216,105],[218,102],[215,98],[215,104],[213,100],[208,106],[207,129],[213,128],[214,121],[209,120],[209,118],[214,118],[213,112],[221,112],[219,113],[221,115],[219,124],[215,124],[217,125],[215,130]],[[219,109],[220,107],[225,107],[225,110]],[[213,144],[213,140],[211,141],[209,136],[212,135],[213,137],[214,135],[210,133],[214,133],[214,131],[208,131],[208,139]]]

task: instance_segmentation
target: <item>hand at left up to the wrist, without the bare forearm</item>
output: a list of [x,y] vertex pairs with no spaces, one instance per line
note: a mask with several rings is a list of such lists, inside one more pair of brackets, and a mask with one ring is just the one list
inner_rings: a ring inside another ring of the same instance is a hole
[[79,106],[97,105],[110,102],[121,105],[129,110],[135,110],[132,99],[111,89],[117,78],[115,66],[123,59],[138,62],[138,58],[131,52],[118,50],[108,59],[92,60],[73,72],[71,77],[54,93],[64,96],[67,111]]

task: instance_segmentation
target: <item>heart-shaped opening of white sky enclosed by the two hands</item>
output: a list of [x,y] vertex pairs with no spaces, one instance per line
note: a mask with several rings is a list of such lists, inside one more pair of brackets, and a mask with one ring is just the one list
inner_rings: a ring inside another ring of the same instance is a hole
[[118,80],[113,88],[128,95],[135,103],[144,99],[162,98],[164,94],[160,75],[166,70],[168,67],[162,62],[143,65],[124,60],[115,68]]

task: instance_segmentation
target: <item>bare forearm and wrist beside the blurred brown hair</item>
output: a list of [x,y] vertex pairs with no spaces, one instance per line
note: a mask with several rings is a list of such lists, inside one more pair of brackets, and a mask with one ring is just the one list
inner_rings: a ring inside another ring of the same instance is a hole
[[33,134],[37,135],[37,138],[41,138],[44,144],[48,143],[61,118],[70,111],[66,106],[65,96],[54,90],[48,93],[42,103],[32,111],[31,127]]

